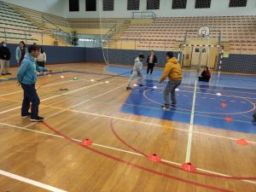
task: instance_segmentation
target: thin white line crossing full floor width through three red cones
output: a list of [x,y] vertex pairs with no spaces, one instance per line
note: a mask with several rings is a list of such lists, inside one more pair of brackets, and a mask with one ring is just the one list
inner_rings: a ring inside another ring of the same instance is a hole
[[[47,133],[47,132],[44,132],[44,131],[35,131],[35,130],[31,130],[31,129],[26,129],[26,128],[22,127],[22,126],[9,125],[9,124],[4,124],[4,123],[0,123],[0,125],[7,125],[9,127],[14,127],[14,128],[20,129],[20,130],[32,131],[32,132],[41,133],[41,134],[44,134],[44,135],[47,135],[47,136],[51,136],[51,137],[58,137],[58,138],[65,139],[64,137],[61,137],[59,135]],[[79,139],[74,139],[74,138],[72,138],[72,139],[74,141],[76,141],[76,142],[80,142],[80,143],[82,142],[82,140],[79,140]],[[120,149],[120,148],[113,148],[113,147],[109,147],[109,146],[102,145],[102,144],[97,144],[97,143],[92,143],[92,145],[95,145],[95,146],[101,147],[101,148],[108,148],[108,149],[112,149],[112,150],[115,150],[115,151],[120,151],[120,152],[124,152],[124,153],[127,153],[127,154],[135,154],[137,156],[144,157],[142,154],[138,154],[138,153],[135,153],[135,152],[132,152],[132,151],[128,151],[128,150],[124,150],[124,149]],[[176,166],[181,166],[182,165],[180,163],[177,163],[177,162],[174,162],[174,161],[171,161],[171,160],[162,160],[162,161],[170,163],[172,165],[176,165]],[[198,168],[198,167],[196,167],[196,169],[200,170],[201,172],[208,172],[208,173],[212,173],[212,174],[216,174],[216,175],[220,175],[220,176],[231,177],[230,175],[225,175],[225,174],[219,173],[219,172],[212,172],[212,171],[208,171],[208,170],[201,169],[201,168]],[[242,180],[242,181],[247,182],[247,183],[256,184],[256,182],[249,181],[249,180]]]

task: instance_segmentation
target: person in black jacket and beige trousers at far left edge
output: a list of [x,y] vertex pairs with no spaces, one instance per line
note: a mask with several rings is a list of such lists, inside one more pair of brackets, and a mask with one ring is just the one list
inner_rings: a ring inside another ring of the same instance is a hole
[[6,43],[3,41],[0,47],[1,75],[10,74],[9,59],[10,59],[9,48],[6,46]]

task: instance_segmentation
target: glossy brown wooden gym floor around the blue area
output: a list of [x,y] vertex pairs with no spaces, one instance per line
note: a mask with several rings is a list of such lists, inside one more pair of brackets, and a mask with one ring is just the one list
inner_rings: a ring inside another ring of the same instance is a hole
[[1,77],[0,191],[256,191],[255,134],[123,113],[127,78],[99,64],[47,67],[37,83],[44,123],[20,117],[17,68]]

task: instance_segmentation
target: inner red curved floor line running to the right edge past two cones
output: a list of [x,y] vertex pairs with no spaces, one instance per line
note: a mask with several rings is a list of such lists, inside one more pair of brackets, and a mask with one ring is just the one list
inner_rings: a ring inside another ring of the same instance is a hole
[[[113,131],[113,134],[119,139],[119,141],[121,143],[124,143],[125,146],[127,146],[128,148],[131,148],[132,150],[136,151],[138,154],[143,154],[143,156],[147,157],[147,154],[144,154],[142,151],[138,150],[137,148],[133,148],[131,147],[131,145],[129,145],[128,143],[125,142],[125,140],[123,140],[121,137],[119,137],[118,133],[114,130],[113,128],[113,119],[110,120],[110,128],[111,131]],[[178,170],[182,170],[183,172],[185,172],[183,170],[182,167],[179,166],[173,166],[169,163],[166,163],[162,160],[160,160],[159,162],[160,164],[166,165],[166,166],[171,166],[172,168],[178,169]],[[232,179],[232,180],[256,180],[256,177],[231,177],[231,176],[220,176],[220,175],[216,175],[216,174],[212,174],[212,173],[206,173],[206,172],[190,172],[190,173],[194,173],[194,174],[198,174],[198,175],[202,175],[202,176],[207,176],[207,177],[218,177],[218,178],[225,178],[225,179]]]

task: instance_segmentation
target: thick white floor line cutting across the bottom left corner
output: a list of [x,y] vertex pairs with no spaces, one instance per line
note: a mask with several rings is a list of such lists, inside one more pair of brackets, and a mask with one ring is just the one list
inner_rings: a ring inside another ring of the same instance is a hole
[[18,175],[10,173],[10,172],[4,172],[3,170],[0,170],[0,175],[13,178],[13,179],[18,180],[18,181],[23,182],[23,183],[32,184],[32,185],[37,186],[41,189],[47,189],[47,190],[53,191],[53,192],[67,192],[67,190],[58,189],[58,188],[49,186],[48,184],[39,183],[37,181],[34,181],[34,180],[26,178],[26,177],[20,177]]

